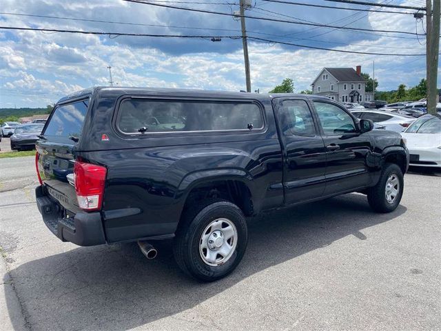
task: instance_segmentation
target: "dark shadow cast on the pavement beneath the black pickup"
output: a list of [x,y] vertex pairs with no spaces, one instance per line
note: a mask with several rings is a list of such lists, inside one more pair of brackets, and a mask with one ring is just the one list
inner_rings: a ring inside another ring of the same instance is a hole
[[187,278],[166,242],[155,245],[158,257],[152,261],[136,243],[101,245],[30,261],[10,273],[34,330],[127,330],[193,308],[257,272],[343,237],[365,240],[362,229],[406,210],[400,205],[376,214],[365,196],[348,194],[264,214],[249,222],[243,261],[215,283]]

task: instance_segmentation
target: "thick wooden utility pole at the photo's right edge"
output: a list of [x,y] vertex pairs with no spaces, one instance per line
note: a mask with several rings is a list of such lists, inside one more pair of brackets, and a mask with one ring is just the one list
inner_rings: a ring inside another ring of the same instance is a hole
[[427,112],[436,114],[438,102],[438,52],[440,51],[440,0],[426,0],[426,70],[427,70]]

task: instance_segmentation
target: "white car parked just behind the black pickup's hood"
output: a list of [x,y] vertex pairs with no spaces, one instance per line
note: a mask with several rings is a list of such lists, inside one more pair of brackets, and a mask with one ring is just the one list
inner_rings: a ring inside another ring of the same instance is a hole
[[371,119],[373,123],[384,126],[386,130],[396,132],[402,132],[415,121],[415,117],[381,110],[352,110],[351,113],[359,119]]

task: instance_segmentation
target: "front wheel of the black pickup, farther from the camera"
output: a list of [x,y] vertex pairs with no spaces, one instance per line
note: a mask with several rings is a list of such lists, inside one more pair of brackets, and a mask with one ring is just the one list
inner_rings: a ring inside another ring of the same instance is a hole
[[380,180],[367,191],[367,201],[376,212],[393,212],[400,204],[403,189],[401,168],[395,163],[385,163]]

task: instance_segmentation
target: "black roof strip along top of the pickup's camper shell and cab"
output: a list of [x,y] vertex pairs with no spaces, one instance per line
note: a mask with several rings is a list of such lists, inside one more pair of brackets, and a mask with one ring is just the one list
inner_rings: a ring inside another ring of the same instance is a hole
[[[138,95],[176,95],[176,97],[209,97],[209,98],[234,98],[234,99],[249,99],[250,95],[253,99],[274,99],[276,97],[311,97],[314,94],[296,94],[296,93],[247,93],[247,92],[229,92],[216,90],[194,90],[185,88],[134,88],[134,87],[109,87],[96,86],[93,88],[86,88],[78,92],[74,92],[59,99],[57,103],[64,103],[70,99],[79,99],[88,94],[95,93],[105,94],[107,96],[120,96],[123,94],[138,94]],[[314,98],[328,99],[319,95],[314,95]]]

